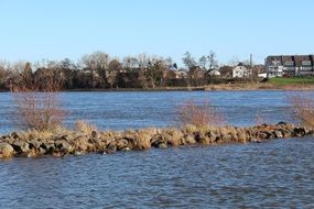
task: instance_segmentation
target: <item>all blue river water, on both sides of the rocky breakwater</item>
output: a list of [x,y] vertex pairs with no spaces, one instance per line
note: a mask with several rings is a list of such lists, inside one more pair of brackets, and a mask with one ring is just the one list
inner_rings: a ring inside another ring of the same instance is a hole
[[[207,98],[225,121],[292,121],[289,91],[66,92],[67,125],[166,127],[176,107]],[[10,94],[0,94],[1,131]],[[314,139],[185,146],[112,155],[0,161],[0,208],[314,208]]]

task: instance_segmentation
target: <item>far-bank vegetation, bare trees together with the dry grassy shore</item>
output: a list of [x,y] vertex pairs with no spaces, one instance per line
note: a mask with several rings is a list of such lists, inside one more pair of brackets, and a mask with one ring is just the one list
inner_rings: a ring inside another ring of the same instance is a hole
[[[0,59],[0,91],[34,84],[41,90],[51,79],[59,84],[62,91],[314,89],[313,76],[267,79],[264,65],[218,65],[214,52],[199,58],[186,52],[182,64],[180,67],[171,57],[147,54],[120,59],[101,51],[86,54],[77,62]],[[247,69],[241,76],[234,73],[239,65]]]

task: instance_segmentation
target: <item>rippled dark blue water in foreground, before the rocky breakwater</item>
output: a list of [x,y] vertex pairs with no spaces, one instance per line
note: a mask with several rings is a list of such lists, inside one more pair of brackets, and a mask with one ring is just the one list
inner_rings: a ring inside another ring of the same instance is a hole
[[0,208],[314,207],[314,140],[2,161]]

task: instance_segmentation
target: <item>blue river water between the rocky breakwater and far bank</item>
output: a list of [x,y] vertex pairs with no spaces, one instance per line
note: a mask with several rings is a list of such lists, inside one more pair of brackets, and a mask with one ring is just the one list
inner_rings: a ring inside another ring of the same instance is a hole
[[[167,92],[64,92],[68,112],[66,124],[89,120],[101,129],[166,127],[176,121],[177,106],[194,99],[209,100],[225,120],[235,125],[250,125],[260,114],[266,122],[290,121],[288,96],[291,91],[167,91]],[[313,95],[313,94],[312,94]],[[17,128],[9,120],[12,97],[0,92],[0,133]]]

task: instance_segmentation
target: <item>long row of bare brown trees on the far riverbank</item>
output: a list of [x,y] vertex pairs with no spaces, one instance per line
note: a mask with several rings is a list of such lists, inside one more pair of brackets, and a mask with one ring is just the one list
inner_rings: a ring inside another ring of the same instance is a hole
[[78,62],[41,61],[36,63],[0,62],[0,88],[12,86],[44,87],[51,79],[62,89],[84,88],[156,88],[202,86],[210,82],[210,70],[217,67],[214,52],[199,59],[186,52],[182,58],[185,68],[178,69],[171,57],[140,54],[120,61],[105,52],[84,55]]

